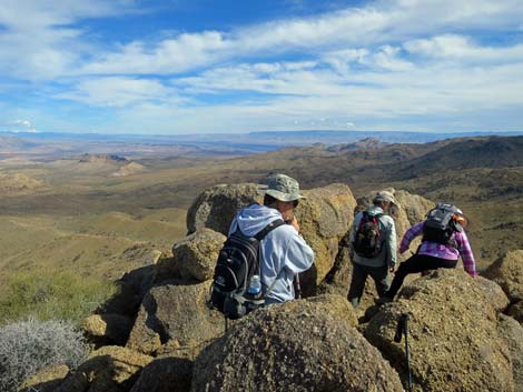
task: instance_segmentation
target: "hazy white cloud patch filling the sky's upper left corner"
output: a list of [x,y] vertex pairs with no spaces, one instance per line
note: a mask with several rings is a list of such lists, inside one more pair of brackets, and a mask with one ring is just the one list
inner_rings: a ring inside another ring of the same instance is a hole
[[121,13],[129,4],[124,0],[2,0],[0,72],[22,80],[68,74],[86,50],[83,30],[73,23]]

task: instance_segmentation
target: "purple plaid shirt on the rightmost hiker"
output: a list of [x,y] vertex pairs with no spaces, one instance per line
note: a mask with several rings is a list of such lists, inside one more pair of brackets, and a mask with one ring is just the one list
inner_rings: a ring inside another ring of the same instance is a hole
[[[399,253],[404,253],[411,245],[412,240],[423,234],[424,223],[425,222],[420,222],[406,231],[405,235],[403,235],[402,243],[399,244]],[[461,255],[465,271],[473,278],[477,277],[476,262],[465,231],[454,232],[452,235],[457,244],[457,249],[436,242],[423,241],[417,253],[445,260],[457,260]]]

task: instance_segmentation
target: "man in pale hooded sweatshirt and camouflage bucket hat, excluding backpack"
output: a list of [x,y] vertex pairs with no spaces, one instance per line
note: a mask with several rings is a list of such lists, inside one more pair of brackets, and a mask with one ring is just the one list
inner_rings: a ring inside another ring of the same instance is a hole
[[229,234],[239,228],[245,235],[254,237],[273,221],[283,219],[287,223],[270,231],[260,242],[264,294],[272,288],[265,304],[294,300],[294,277],[314,263],[314,252],[299,235],[299,224],[294,215],[299,199],[304,197],[299,194],[295,179],[274,174],[265,190],[264,205],[253,204],[243,209],[230,224]]

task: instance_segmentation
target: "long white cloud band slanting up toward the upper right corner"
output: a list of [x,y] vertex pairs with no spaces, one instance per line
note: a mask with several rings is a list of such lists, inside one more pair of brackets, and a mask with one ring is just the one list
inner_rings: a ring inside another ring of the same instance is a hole
[[[182,33],[152,44],[135,41],[117,52],[102,53],[80,72],[171,74],[251,56],[343,51],[347,47],[352,50],[376,44],[387,48],[405,39],[434,36],[448,29],[516,28],[521,19],[523,2],[515,0],[495,4],[487,0],[379,1],[310,18],[249,26],[229,33]],[[385,68],[408,67],[391,62],[388,54],[382,53]]]

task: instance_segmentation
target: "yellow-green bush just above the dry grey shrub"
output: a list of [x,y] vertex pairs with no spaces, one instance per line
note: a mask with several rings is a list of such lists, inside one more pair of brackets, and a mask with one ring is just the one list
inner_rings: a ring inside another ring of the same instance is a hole
[[32,316],[78,325],[115,290],[109,281],[72,272],[19,272],[0,289],[0,324]]

